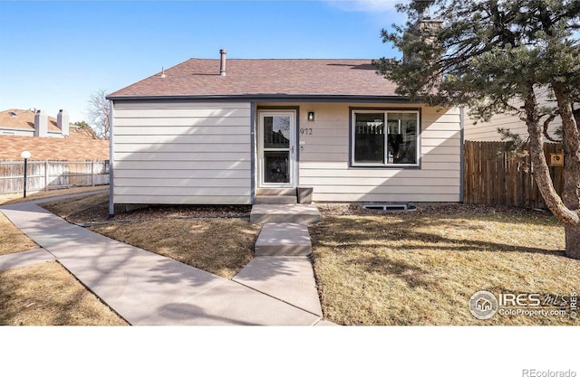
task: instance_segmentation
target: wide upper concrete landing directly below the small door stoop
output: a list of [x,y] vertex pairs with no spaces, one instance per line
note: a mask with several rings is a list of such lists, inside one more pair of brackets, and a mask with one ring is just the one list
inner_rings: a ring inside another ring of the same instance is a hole
[[321,219],[314,204],[254,204],[251,222],[295,222],[313,224]]

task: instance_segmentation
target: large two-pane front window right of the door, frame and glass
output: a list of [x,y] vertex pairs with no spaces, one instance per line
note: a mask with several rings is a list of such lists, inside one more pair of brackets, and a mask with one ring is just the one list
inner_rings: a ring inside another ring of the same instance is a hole
[[419,112],[353,111],[353,166],[417,166]]

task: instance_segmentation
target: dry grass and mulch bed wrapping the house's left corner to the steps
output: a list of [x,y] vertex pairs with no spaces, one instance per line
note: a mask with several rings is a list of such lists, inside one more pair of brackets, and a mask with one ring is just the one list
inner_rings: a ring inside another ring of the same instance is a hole
[[[105,222],[89,229],[222,278],[233,278],[252,258],[260,226],[244,216],[249,207],[152,207],[108,219],[107,193],[43,203],[73,222]],[[218,218],[221,217],[221,218]]]

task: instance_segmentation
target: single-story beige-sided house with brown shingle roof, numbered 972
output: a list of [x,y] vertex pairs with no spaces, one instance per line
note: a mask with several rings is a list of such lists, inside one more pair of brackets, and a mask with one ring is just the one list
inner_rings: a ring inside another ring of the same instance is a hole
[[221,51],[107,98],[114,203],[251,204],[296,187],[316,202],[461,200],[460,109],[401,98],[371,60]]

